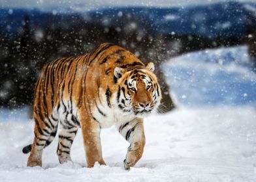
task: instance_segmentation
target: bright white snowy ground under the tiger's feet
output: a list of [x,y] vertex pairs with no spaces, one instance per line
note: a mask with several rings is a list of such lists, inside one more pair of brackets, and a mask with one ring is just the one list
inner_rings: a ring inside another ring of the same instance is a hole
[[[256,180],[255,113],[255,108],[249,106],[181,107],[170,114],[150,116],[144,122],[144,155],[130,171],[123,169],[122,162],[129,144],[114,127],[101,133],[107,166],[85,167],[79,130],[71,149],[74,162],[59,164],[56,138],[44,149],[42,168],[29,168],[25,166],[28,155],[22,153],[22,148],[33,140],[33,121],[0,119],[0,181],[253,182]],[[1,114],[0,118],[4,117]]]

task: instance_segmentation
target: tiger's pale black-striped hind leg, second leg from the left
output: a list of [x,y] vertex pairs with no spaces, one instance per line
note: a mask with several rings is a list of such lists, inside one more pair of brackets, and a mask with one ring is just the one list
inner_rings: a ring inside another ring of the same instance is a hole
[[65,120],[59,123],[59,142],[57,145],[57,156],[61,164],[67,161],[72,161],[71,146],[79,126],[80,125],[77,124],[77,120],[74,119],[74,116],[67,116]]

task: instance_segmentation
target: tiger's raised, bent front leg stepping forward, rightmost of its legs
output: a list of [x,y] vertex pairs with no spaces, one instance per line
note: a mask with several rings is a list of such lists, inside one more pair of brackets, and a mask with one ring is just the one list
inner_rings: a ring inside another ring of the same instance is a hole
[[119,131],[121,135],[130,142],[125,160],[123,161],[125,170],[129,170],[130,167],[135,166],[144,151],[145,135],[143,120],[136,118],[131,122],[124,123],[120,126]]

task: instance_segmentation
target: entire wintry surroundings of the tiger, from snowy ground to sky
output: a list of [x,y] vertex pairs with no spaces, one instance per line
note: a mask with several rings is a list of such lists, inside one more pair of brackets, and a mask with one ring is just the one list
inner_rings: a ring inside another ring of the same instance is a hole
[[[42,66],[103,42],[154,62],[171,110],[145,118],[142,159],[123,170],[129,144],[113,126],[101,131],[107,166],[84,168],[78,130],[74,163],[59,164],[55,139],[42,168],[25,167]],[[0,0],[0,181],[255,182],[255,57],[255,0]]]

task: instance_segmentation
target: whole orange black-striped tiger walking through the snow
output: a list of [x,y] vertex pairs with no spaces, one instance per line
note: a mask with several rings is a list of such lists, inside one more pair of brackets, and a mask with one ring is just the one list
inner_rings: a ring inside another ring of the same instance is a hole
[[[46,64],[35,86],[33,144],[27,166],[42,166],[42,150],[58,130],[57,157],[71,161],[71,145],[78,128],[87,167],[106,164],[101,149],[101,129],[116,126],[129,142],[125,170],[135,166],[145,146],[143,118],[157,110],[161,88],[152,62],[144,64],[122,47],[104,43],[91,53],[64,57]],[[59,129],[57,129],[59,128]]]

